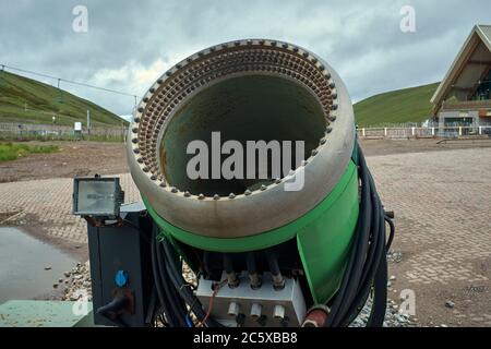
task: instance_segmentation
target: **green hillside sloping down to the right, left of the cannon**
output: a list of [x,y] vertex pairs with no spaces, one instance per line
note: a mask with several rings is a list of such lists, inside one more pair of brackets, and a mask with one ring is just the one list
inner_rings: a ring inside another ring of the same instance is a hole
[[121,125],[124,120],[112,112],[41,82],[0,71],[0,122],[85,125],[87,109],[92,125]]

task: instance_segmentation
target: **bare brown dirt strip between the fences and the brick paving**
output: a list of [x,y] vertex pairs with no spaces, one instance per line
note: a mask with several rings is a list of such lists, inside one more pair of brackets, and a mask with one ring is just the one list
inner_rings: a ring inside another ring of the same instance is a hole
[[[37,144],[32,142],[32,144]],[[116,174],[129,171],[122,143],[43,142],[57,145],[51,154],[31,154],[24,158],[0,163],[0,183],[76,176]],[[423,140],[364,140],[360,142],[366,156],[427,153],[451,149],[491,147],[491,140],[440,142]]]

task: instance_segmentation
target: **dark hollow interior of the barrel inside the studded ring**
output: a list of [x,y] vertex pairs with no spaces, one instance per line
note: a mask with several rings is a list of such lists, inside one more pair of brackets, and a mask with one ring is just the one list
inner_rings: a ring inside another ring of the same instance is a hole
[[[169,185],[194,195],[213,196],[242,194],[275,180],[271,169],[272,152],[268,153],[267,179],[212,179],[212,152],[216,152],[212,148],[212,132],[220,133],[221,144],[229,140],[239,141],[244,158],[247,141],[278,141],[280,144],[291,141],[290,169],[295,169],[299,163],[295,158],[295,142],[304,142],[302,159],[308,158],[324,136],[325,118],[321,104],[308,88],[283,76],[249,74],[209,85],[184,101],[160,140],[160,167]],[[187,174],[188,161],[195,156],[187,154],[192,141],[207,144],[208,179],[192,180]],[[221,155],[220,164],[228,156]],[[256,159],[256,172],[259,165]],[[246,160],[243,169],[246,177]],[[282,169],[280,177],[288,174],[283,161]]]

